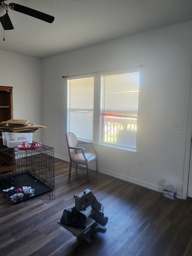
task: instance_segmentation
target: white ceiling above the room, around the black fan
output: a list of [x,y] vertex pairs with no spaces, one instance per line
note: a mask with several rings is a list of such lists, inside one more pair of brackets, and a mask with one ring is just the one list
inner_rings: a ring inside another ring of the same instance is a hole
[[9,9],[14,29],[3,32],[0,24],[0,50],[39,58],[192,20],[192,0],[14,2],[50,14],[55,20],[49,24]]

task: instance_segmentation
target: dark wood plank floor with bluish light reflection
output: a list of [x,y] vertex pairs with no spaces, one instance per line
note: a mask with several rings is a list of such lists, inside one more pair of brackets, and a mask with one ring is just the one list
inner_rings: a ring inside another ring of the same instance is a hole
[[[191,256],[192,200],[170,200],[162,193],[55,159],[55,199],[13,205],[0,193],[1,256]],[[74,194],[89,188],[108,216],[106,232],[91,244],[61,227],[63,210]]]

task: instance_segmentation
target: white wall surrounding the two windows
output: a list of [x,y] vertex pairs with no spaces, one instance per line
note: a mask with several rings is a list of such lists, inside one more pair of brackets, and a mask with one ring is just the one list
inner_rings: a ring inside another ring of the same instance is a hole
[[[43,59],[44,143],[55,148],[55,156],[68,159],[62,76],[143,65],[137,152],[97,145],[99,171],[161,192],[169,180],[182,197],[191,42],[192,22],[187,22]],[[182,131],[174,130],[174,122],[182,124]]]

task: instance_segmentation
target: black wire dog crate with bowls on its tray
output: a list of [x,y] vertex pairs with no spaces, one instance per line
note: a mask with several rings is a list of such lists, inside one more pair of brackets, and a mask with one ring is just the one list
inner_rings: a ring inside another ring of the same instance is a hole
[[[34,142],[33,142],[34,143]],[[13,203],[55,199],[54,149],[0,149],[0,190]]]

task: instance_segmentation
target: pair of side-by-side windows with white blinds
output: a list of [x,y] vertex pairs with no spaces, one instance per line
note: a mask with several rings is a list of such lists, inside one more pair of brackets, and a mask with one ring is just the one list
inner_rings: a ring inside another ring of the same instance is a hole
[[67,131],[79,140],[135,149],[139,70],[110,72],[67,79]]

